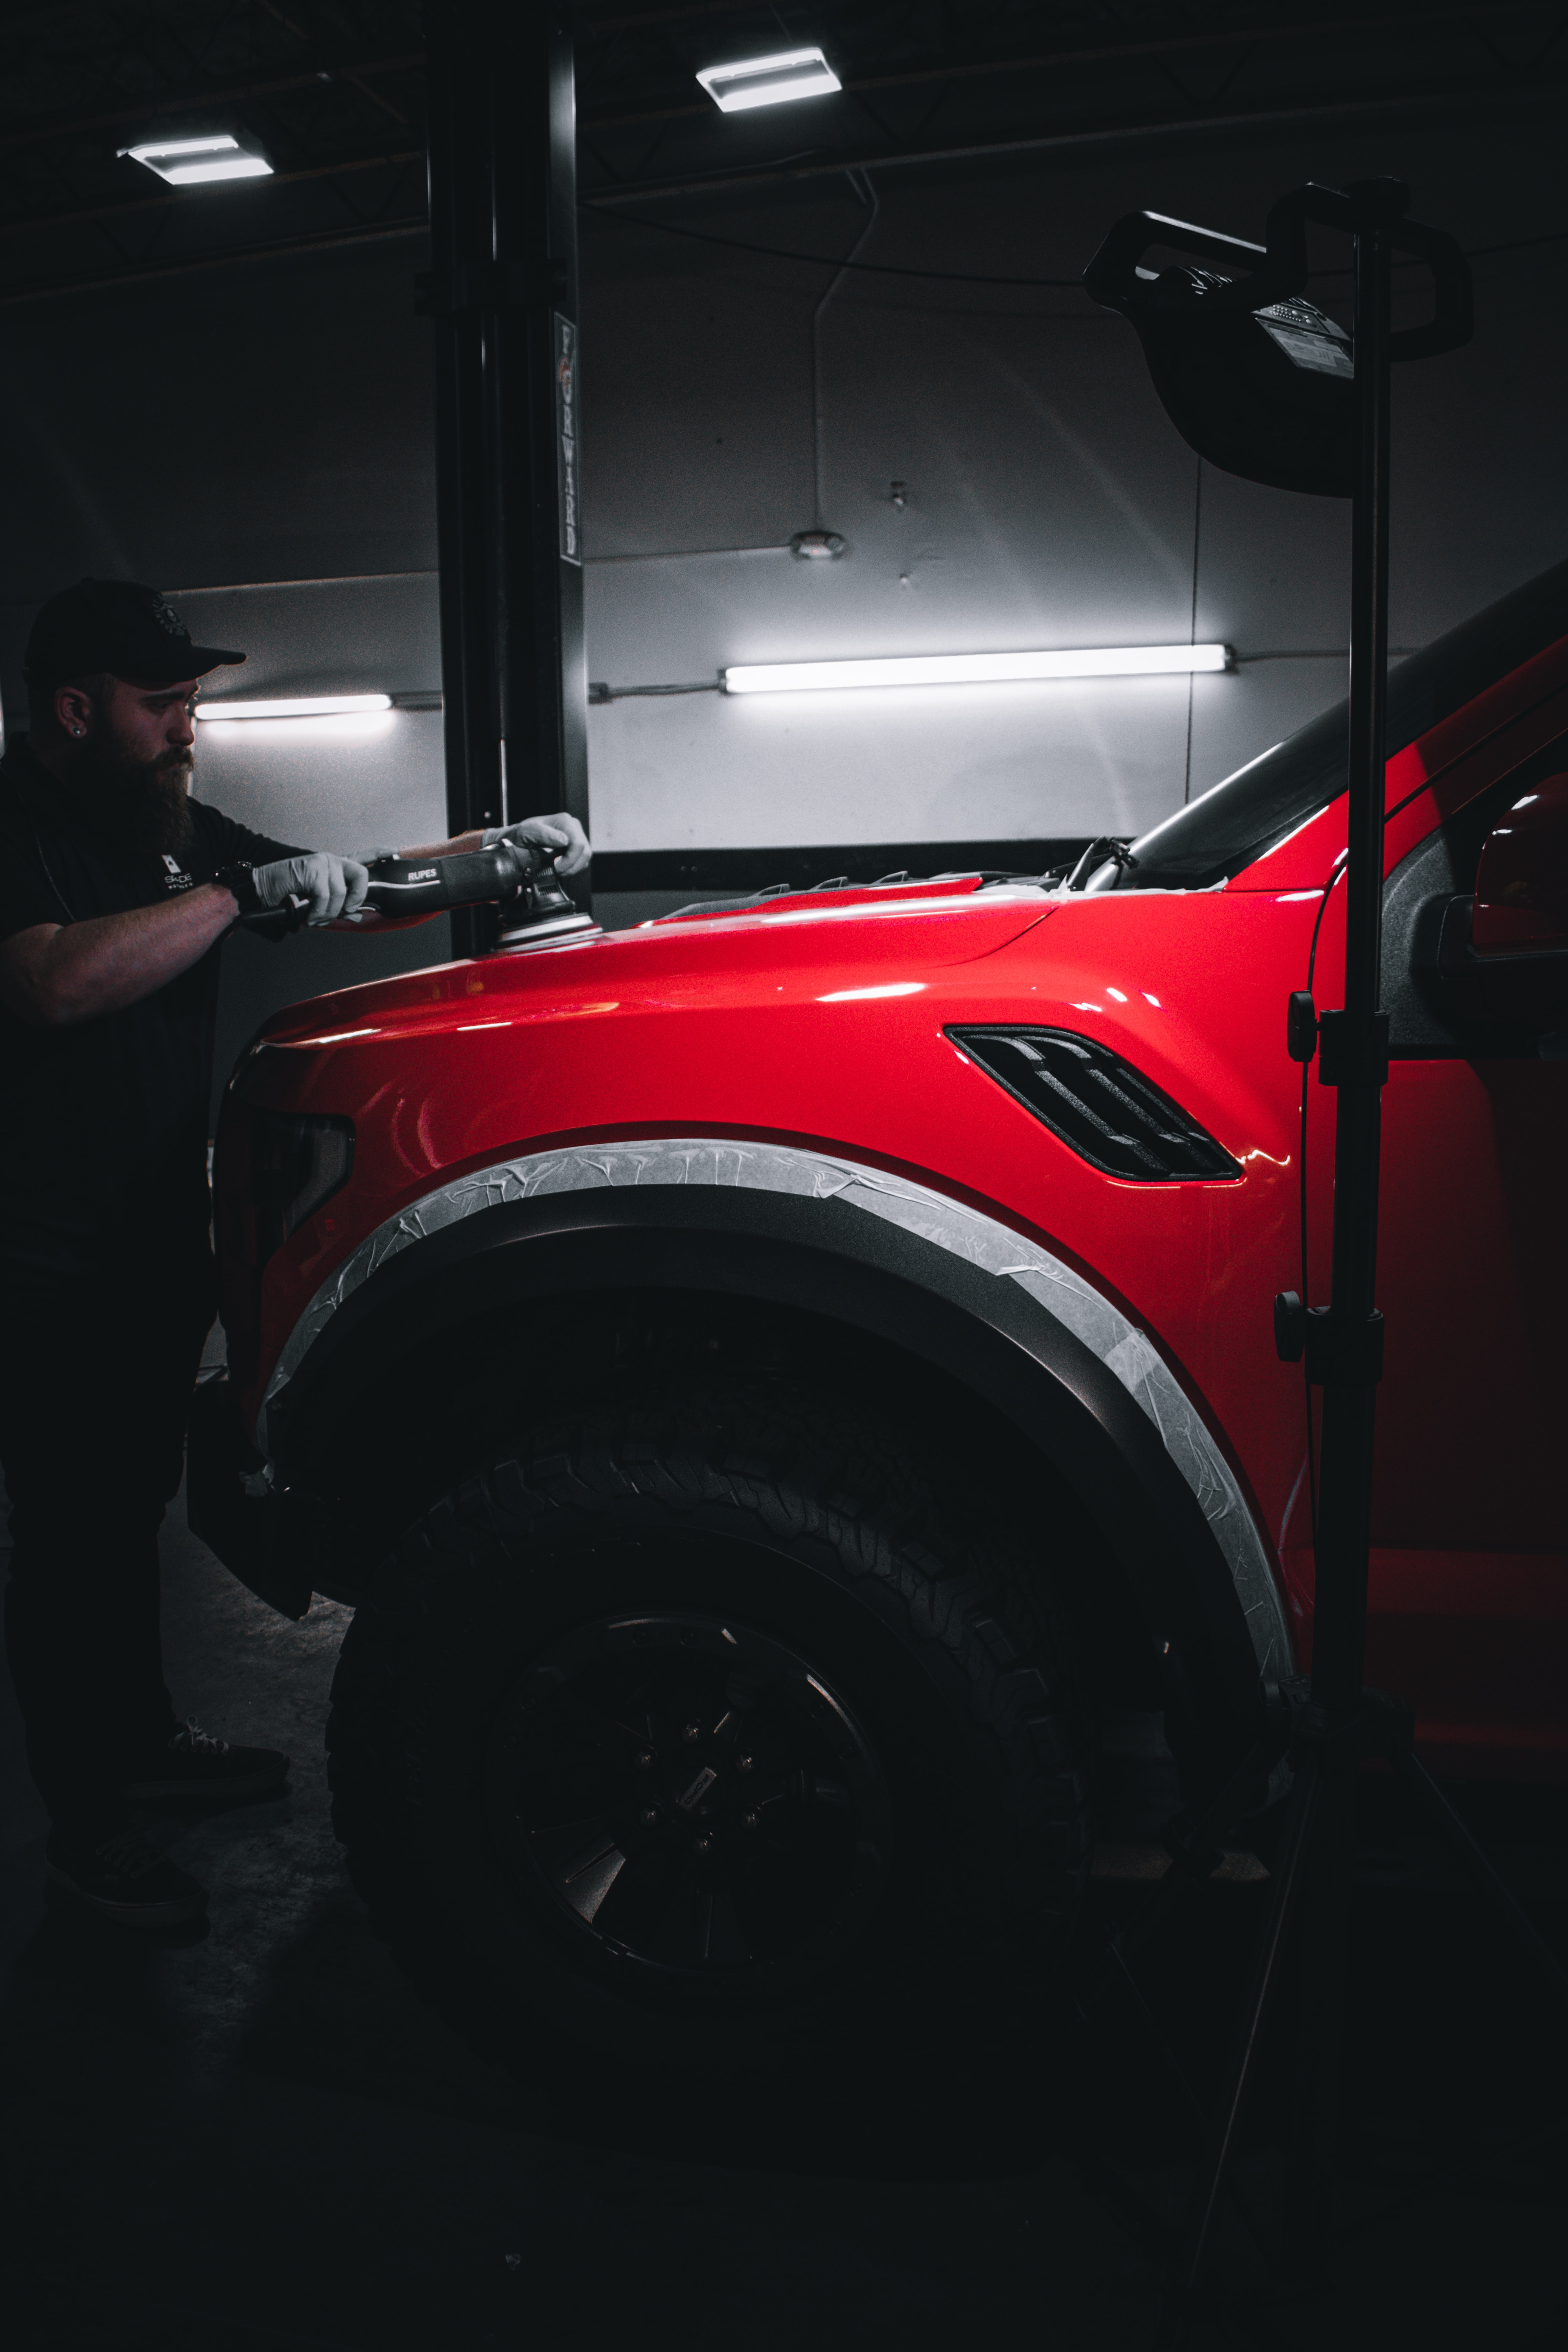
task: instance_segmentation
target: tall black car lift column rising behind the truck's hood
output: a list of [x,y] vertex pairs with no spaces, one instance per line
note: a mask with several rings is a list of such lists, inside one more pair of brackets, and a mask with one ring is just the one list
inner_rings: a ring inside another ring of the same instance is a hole
[[[440,0],[425,28],[447,823],[585,826],[571,31],[505,0]],[[458,955],[491,936],[454,915]]]

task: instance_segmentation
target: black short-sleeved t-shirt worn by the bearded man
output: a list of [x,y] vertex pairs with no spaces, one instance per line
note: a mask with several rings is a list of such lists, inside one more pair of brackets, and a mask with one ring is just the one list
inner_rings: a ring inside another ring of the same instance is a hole
[[[0,762],[0,941],[162,906],[237,858],[301,854],[200,800],[190,816],[181,858],[103,842],[21,739]],[[200,1244],[216,1000],[214,946],[120,1014],[33,1028],[0,1007],[0,1272],[113,1275]]]

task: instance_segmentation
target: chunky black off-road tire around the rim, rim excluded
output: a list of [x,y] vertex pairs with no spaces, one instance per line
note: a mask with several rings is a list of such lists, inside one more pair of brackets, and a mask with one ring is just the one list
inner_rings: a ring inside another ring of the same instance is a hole
[[[1037,2006],[1088,1863],[1070,1562],[1046,1515],[1044,1538],[1011,1524],[938,1456],[853,1399],[766,1383],[578,1409],[498,1451],[402,1536],[343,1642],[327,1745],[360,1891],[461,1938],[529,2034],[599,2058],[783,2067],[931,1997],[994,2004],[1011,1983]],[[625,1969],[552,1924],[498,1846],[494,1726],[520,1679],[637,1609],[788,1644],[884,1776],[875,1900],[776,1994]]]

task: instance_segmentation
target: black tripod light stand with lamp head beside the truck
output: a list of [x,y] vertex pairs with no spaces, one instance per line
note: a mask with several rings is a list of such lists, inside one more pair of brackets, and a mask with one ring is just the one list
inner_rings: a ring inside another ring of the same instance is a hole
[[[1354,501],[1345,1002],[1319,1023],[1309,1000],[1293,1000],[1291,1011],[1305,1007],[1309,1016],[1305,1040],[1300,1021],[1288,1023],[1295,1058],[1312,1061],[1316,1051],[1319,1080],[1338,1094],[1333,1270],[1326,1308],[1302,1312],[1295,1294],[1274,1301],[1279,1355],[1300,1362],[1305,1352],[1307,1378],[1324,1390],[1312,1679],[1305,1693],[1300,1686],[1279,1693],[1269,1708],[1269,1726],[1204,1816],[1197,1823],[1178,1816],[1180,1835],[1168,1832],[1178,1860],[1182,1853],[1204,1853],[1234,1825],[1260,1766],[1267,1769],[1288,1755],[1293,1785],[1269,1915],[1237,2023],[1187,2244],[1171,2281],[1161,2336],[1166,2347],[1180,2343],[1201,2284],[1265,2023],[1298,1919],[1305,1929],[1298,2013],[1298,2192],[1307,2244],[1319,2260],[1326,2251],[1363,1755],[1375,1752],[1389,1762],[1427,1811],[1432,1828],[1568,2002],[1568,1973],[1415,1757],[1410,1710],[1366,1691],[1361,1679],[1375,1399],[1382,1378],[1382,1317],[1375,1305],[1378,1164],[1389,1065],[1389,1021],[1378,1002],[1389,642],[1389,369],[1396,360],[1453,350],[1472,334],[1465,256],[1453,238],[1406,221],[1408,202],[1410,191],[1394,179],[1359,181],[1345,193],[1295,188],[1269,212],[1267,247],[1161,214],[1128,214],[1084,273],[1086,289],[1138,327],[1157,390],[1199,456],[1244,480]],[[1321,221],[1354,238],[1354,360],[1335,353],[1335,339],[1342,343],[1340,329],[1298,299],[1307,285],[1307,221]],[[1143,254],[1161,245],[1220,261],[1225,275],[1192,266],[1159,275],[1143,270]],[[1432,266],[1436,308],[1425,327],[1396,332],[1392,325],[1396,252]],[[1244,275],[1234,275],[1237,270]],[[1298,353],[1298,376],[1291,365],[1281,365],[1281,350],[1291,346]],[[1166,1886],[1180,1886],[1180,1872],[1173,1872]],[[1152,1898],[1150,1919],[1164,1900],[1168,1896],[1161,1889],[1161,1896]],[[1126,1950],[1135,1940],[1140,1940],[1138,1924],[1112,1945],[1124,1971]],[[1147,2009],[1143,2013],[1147,2018]]]

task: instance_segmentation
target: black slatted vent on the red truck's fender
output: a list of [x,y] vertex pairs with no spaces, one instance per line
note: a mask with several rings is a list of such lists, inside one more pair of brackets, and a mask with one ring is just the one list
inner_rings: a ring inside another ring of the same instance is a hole
[[1093,1037],[1037,1028],[952,1028],[947,1035],[1105,1176],[1180,1183],[1241,1174],[1208,1129]]

